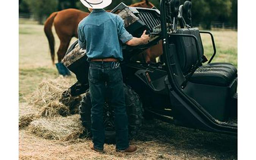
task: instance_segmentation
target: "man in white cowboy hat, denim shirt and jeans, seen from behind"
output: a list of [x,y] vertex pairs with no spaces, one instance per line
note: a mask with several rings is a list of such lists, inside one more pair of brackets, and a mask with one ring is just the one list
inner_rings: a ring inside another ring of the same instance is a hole
[[103,105],[105,85],[110,89],[111,105],[115,111],[116,151],[134,152],[137,147],[129,145],[128,119],[124,99],[123,77],[119,61],[123,60],[121,43],[135,46],[147,44],[149,36],[144,31],[135,38],[124,28],[123,19],[103,8],[112,0],[80,0],[91,11],[78,26],[79,45],[86,49],[90,62],[88,80],[91,93],[91,132],[93,144],[90,148],[103,152],[105,132]]

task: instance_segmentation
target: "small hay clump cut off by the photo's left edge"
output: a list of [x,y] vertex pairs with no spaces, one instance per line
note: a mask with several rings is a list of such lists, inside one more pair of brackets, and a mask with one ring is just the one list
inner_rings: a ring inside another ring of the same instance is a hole
[[19,104],[19,129],[27,127],[31,121],[38,118],[38,110],[27,103]]

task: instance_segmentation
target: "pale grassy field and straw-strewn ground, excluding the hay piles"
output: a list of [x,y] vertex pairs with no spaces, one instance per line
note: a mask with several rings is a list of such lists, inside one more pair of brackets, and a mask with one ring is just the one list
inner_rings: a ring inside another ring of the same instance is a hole
[[[237,66],[237,32],[213,31],[217,45],[214,61],[230,62]],[[75,39],[72,39],[74,41]],[[210,57],[210,39],[203,36],[204,50]],[[55,49],[59,40],[55,35]],[[48,42],[43,26],[20,19],[19,25],[19,102],[27,103],[43,79],[57,78],[58,72],[52,66]],[[70,85],[75,76],[67,78]],[[23,110],[23,108],[20,108]],[[195,129],[177,127],[159,120],[145,121],[131,144],[138,146],[135,154],[118,154],[115,146],[105,144],[105,153],[91,151],[88,139],[70,141],[46,140],[19,130],[19,158],[21,160],[236,160],[237,137]]]

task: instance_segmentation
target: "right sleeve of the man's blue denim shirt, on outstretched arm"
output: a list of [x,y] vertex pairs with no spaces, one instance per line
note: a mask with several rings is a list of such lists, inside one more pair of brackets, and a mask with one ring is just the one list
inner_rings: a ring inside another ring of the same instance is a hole
[[118,38],[123,43],[131,40],[133,36],[124,28],[124,20],[120,16],[116,16],[117,20],[117,30],[118,30]]

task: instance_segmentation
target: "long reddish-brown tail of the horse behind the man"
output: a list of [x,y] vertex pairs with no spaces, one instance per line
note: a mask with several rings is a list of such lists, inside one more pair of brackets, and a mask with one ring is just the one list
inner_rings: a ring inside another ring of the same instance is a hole
[[54,56],[55,56],[55,51],[54,51],[54,46],[55,46],[55,40],[54,36],[52,33],[52,24],[55,16],[58,14],[58,12],[53,12],[47,19],[46,22],[44,23],[44,33],[46,34],[46,37],[49,42],[49,47],[50,47],[50,52],[51,52],[51,57],[52,57],[52,63],[54,64]]

